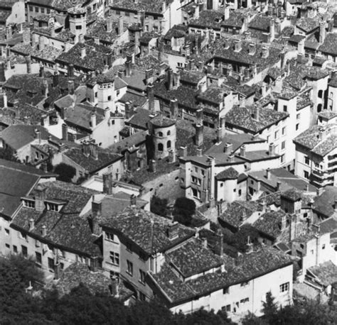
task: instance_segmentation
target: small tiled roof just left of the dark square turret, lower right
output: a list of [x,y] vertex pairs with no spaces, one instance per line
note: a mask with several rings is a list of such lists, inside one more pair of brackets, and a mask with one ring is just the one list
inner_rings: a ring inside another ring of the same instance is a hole
[[287,214],[282,210],[267,212],[262,214],[253,226],[258,231],[262,231],[276,239],[282,233],[282,216],[287,218]]

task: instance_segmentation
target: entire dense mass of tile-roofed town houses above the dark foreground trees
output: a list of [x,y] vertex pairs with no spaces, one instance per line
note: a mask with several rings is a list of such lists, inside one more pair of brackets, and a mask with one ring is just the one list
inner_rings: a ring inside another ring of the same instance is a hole
[[336,4],[3,1],[0,157],[0,254],[61,293],[233,320],[333,299]]

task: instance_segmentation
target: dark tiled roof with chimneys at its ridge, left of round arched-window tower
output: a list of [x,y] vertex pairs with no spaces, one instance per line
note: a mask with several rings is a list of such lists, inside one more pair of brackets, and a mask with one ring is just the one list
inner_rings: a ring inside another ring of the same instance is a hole
[[93,158],[91,155],[89,155],[89,157],[84,155],[82,153],[82,148],[71,148],[65,151],[63,155],[73,160],[73,162],[80,165],[90,174],[122,159],[122,155],[113,153],[111,150],[103,150],[101,148],[97,148],[97,159]]

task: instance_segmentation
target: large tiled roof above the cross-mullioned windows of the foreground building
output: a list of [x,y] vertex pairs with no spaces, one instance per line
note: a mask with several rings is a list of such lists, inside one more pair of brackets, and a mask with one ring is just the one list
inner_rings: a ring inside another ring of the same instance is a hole
[[[153,223],[153,224],[152,224]],[[146,253],[163,252],[193,236],[194,231],[177,224],[178,235],[170,239],[167,229],[171,221],[143,209],[129,207],[116,218],[102,221],[102,226],[113,228],[129,238]]]

